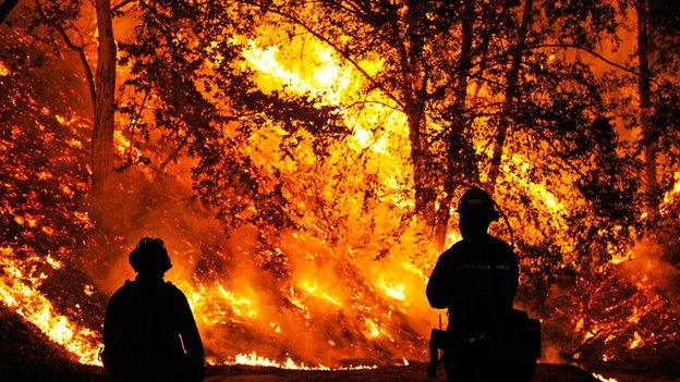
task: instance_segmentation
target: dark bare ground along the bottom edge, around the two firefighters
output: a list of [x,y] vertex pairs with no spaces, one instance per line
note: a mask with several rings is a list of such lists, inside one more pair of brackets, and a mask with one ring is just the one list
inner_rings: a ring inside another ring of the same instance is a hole
[[[111,382],[100,367],[83,366],[70,360],[70,355],[54,345],[35,326],[0,305],[0,381],[3,382]],[[680,378],[631,374],[608,369],[599,372],[617,382],[680,382]],[[367,370],[316,371],[284,370],[253,366],[222,366],[207,369],[206,382],[388,382],[432,381],[425,378],[427,363],[382,367]],[[439,369],[436,381],[444,381]],[[532,382],[595,382],[591,372],[569,365],[539,363]],[[612,380],[608,380],[614,382]]]

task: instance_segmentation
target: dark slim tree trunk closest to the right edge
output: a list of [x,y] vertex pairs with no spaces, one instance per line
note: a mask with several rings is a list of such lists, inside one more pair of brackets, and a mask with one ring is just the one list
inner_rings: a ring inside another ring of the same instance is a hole
[[656,143],[654,126],[652,126],[652,72],[649,70],[649,5],[647,0],[639,0],[635,7],[638,12],[638,60],[640,76],[638,89],[640,93],[640,123],[643,134],[645,156],[646,190],[648,195],[649,212],[656,211],[657,207],[657,181],[656,181]]

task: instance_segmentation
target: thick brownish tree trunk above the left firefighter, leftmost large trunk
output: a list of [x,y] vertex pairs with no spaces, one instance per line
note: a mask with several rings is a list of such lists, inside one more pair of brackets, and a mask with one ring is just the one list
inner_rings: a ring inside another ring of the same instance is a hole
[[111,21],[111,1],[96,0],[99,47],[95,125],[92,136],[93,193],[106,194],[113,174],[113,116],[116,112],[116,40]]

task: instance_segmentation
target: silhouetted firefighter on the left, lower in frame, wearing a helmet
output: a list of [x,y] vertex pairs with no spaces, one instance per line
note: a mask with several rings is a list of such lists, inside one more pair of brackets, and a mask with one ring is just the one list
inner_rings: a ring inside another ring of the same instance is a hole
[[122,381],[203,381],[204,350],[186,297],[163,280],[172,267],[160,238],[130,254],[137,272],[109,299],[101,360]]

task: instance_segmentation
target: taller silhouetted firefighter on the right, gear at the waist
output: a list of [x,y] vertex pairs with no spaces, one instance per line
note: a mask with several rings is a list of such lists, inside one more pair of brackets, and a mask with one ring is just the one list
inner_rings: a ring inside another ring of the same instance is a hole
[[[433,308],[448,309],[449,325],[439,333],[447,338],[439,346],[447,380],[521,381],[512,377],[512,356],[506,346],[518,259],[507,243],[488,234],[499,212],[485,190],[467,189],[458,212],[463,238],[439,256],[426,289]],[[433,331],[433,337],[434,332],[439,331]]]

